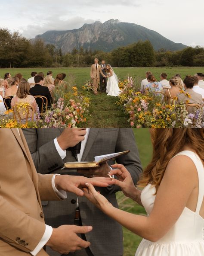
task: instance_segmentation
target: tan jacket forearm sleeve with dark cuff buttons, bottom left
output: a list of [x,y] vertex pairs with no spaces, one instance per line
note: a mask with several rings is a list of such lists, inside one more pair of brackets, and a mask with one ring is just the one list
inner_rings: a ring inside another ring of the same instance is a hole
[[0,196],[0,238],[26,253],[35,249],[45,232],[45,224],[31,218]]

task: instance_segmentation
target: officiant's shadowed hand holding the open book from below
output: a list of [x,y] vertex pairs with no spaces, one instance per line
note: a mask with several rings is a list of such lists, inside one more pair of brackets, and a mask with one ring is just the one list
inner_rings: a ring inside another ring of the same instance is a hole
[[81,173],[87,177],[108,177],[107,174],[110,172],[111,168],[108,163],[103,163],[97,169],[79,169],[77,173]]

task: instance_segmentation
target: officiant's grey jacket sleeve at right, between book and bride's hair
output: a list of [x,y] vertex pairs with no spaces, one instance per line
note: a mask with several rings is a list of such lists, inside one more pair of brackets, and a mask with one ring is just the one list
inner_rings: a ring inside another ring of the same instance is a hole
[[[127,168],[131,174],[134,184],[136,184],[142,174],[142,164],[139,159],[139,151],[135,142],[135,137],[132,129],[130,128],[120,128],[118,133],[115,152],[121,152],[125,150],[130,150],[130,153],[117,158],[116,162],[123,164]],[[120,191],[121,188],[117,185],[114,185],[108,186],[105,188],[105,190],[109,194]]]

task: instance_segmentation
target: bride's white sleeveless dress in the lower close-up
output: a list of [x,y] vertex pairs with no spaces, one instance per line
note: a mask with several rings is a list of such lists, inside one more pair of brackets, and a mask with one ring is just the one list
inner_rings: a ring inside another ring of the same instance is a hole
[[[157,242],[143,239],[135,256],[204,256],[204,218],[199,215],[204,198],[204,166],[198,155],[192,151],[185,150],[177,155],[191,158],[198,171],[199,192],[196,211],[185,207],[164,237]],[[141,201],[148,215],[154,207],[154,194],[155,187],[151,184],[148,184],[141,193]]]

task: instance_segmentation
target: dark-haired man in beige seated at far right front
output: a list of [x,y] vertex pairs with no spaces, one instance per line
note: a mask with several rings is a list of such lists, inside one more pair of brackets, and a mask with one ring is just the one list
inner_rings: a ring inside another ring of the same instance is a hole
[[193,90],[193,86],[194,86],[193,78],[190,76],[187,76],[185,77],[183,83],[184,83],[185,92],[181,92],[177,95],[178,102],[184,102],[185,104],[187,103],[199,104],[202,106],[203,105],[202,95],[194,92]]

